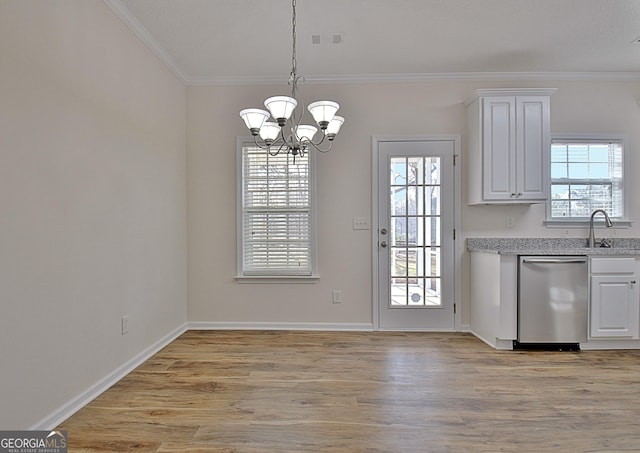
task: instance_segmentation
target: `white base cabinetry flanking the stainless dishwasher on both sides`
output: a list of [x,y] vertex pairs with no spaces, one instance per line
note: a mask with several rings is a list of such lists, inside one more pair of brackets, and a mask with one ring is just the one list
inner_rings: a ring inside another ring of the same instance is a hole
[[[470,327],[496,349],[517,338],[518,256],[470,254]],[[582,349],[640,349],[640,256],[589,258],[588,339]]]

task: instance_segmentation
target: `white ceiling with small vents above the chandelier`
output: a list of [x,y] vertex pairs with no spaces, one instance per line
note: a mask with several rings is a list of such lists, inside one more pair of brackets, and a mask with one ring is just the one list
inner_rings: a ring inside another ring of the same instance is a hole
[[[281,83],[291,70],[290,0],[104,1],[186,84]],[[296,11],[307,81],[640,80],[640,0],[297,0]]]

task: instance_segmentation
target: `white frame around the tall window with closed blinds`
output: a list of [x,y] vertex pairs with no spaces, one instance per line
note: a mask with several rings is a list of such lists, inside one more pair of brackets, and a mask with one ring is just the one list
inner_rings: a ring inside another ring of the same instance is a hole
[[[317,259],[317,214],[316,214],[316,156],[309,152],[309,199],[310,199],[310,256],[309,275],[274,273],[250,273],[244,269],[244,149],[256,148],[253,137],[236,139],[236,277],[238,283],[315,283],[319,280]],[[265,153],[268,151],[263,150]]]

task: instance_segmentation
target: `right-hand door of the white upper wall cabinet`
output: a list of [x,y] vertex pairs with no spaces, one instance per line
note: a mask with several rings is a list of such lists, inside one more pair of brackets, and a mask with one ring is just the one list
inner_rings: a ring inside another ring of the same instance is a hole
[[546,200],[549,197],[549,98],[516,98],[516,198]]

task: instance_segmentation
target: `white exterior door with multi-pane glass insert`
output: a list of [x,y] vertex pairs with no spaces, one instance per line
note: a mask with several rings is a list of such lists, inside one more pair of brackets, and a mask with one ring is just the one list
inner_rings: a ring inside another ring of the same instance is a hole
[[376,145],[377,328],[453,330],[456,141]]

